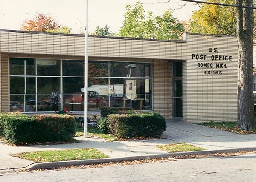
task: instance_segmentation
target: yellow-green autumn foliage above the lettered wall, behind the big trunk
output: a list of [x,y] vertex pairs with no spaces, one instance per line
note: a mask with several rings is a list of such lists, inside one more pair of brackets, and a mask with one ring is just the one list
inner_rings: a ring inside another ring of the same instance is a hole
[[[234,0],[207,0],[212,3],[225,3],[234,5]],[[253,0],[256,3],[256,0]],[[188,22],[187,31],[201,34],[226,34],[237,35],[236,32],[236,9],[230,6],[216,6],[212,4],[201,4],[200,9],[193,11]],[[254,13],[256,10],[254,10]],[[256,22],[256,17],[254,17]],[[255,24],[256,25],[256,24]],[[254,26],[254,42],[256,46],[256,26]]]

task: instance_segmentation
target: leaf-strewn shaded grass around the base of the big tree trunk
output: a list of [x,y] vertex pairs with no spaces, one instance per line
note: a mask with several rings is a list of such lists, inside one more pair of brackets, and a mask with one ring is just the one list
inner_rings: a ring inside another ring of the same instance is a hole
[[208,126],[210,128],[230,131],[237,134],[256,134],[256,129],[251,131],[244,131],[236,126],[236,122],[204,122],[198,125]]

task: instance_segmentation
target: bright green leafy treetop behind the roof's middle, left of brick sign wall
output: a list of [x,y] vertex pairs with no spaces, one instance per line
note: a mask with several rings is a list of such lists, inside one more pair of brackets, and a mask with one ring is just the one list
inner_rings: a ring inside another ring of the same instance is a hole
[[179,39],[184,32],[183,24],[173,17],[171,9],[162,16],[154,16],[151,11],[146,14],[143,3],[137,2],[134,8],[126,5],[124,17],[119,31],[121,37]]

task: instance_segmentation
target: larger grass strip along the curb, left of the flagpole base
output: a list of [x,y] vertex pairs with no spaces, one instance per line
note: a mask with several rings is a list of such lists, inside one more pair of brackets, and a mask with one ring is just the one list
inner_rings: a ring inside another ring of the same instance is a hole
[[35,162],[55,162],[67,160],[85,160],[108,158],[107,155],[95,148],[75,148],[56,151],[22,152],[12,156]]

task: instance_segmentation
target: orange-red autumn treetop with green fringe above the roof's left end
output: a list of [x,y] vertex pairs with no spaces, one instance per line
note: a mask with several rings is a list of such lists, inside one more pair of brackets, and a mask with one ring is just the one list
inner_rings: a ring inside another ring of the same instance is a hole
[[58,24],[55,17],[51,14],[37,13],[34,18],[25,20],[21,25],[21,30],[25,31],[41,31],[55,33],[70,33],[71,28]]

